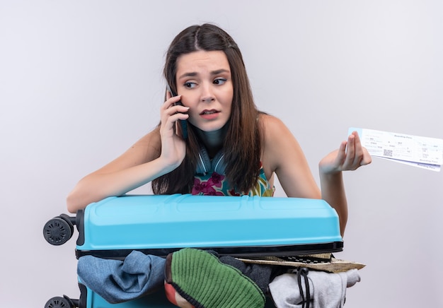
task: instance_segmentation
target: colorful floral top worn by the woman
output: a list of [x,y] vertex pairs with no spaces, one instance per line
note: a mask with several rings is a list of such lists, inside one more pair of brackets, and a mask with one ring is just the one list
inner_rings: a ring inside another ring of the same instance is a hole
[[[257,184],[249,191],[248,196],[263,196],[272,197],[274,195],[275,187],[270,186],[267,182],[265,170],[263,166],[260,167],[260,174],[258,176]],[[238,193],[231,186],[229,186],[226,177],[217,172],[208,173],[205,175],[195,174],[194,186],[192,186],[192,194],[199,196],[242,196],[245,194]]]

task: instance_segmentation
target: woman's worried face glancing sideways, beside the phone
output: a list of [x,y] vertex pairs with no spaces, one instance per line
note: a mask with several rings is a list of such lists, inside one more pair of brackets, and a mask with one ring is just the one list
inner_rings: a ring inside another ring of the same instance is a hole
[[188,121],[202,131],[217,131],[231,117],[231,69],[222,51],[197,51],[177,59],[177,93],[189,109]]

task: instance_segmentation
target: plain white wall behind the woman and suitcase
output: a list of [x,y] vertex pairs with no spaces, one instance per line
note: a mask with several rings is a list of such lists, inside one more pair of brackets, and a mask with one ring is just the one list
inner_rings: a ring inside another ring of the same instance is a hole
[[[156,125],[166,48],[207,21],[238,42],[258,106],[317,179],[349,126],[443,138],[442,1],[0,0],[1,307],[79,296],[75,240],[52,247],[42,227]],[[374,159],[345,183],[338,256],[367,263],[346,307],[442,307],[442,172]]]

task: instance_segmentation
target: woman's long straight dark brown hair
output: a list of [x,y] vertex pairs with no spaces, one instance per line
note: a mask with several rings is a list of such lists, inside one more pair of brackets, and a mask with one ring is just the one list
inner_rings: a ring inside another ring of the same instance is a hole
[[[221,28],[207,23],[192,25],[174,38],[166,54],[163,74],[173,92],[177,93],[178,57],[197,50],[222,50],[228,59],[234,96],[223,146],[226,179],[236,191],[247,193],[260,172],[261,129],[243,57],[236,42]],[[197,135],[188,122],[185,159],[176,170],[152,181],[154,194],[190,193],[198,150]]]

